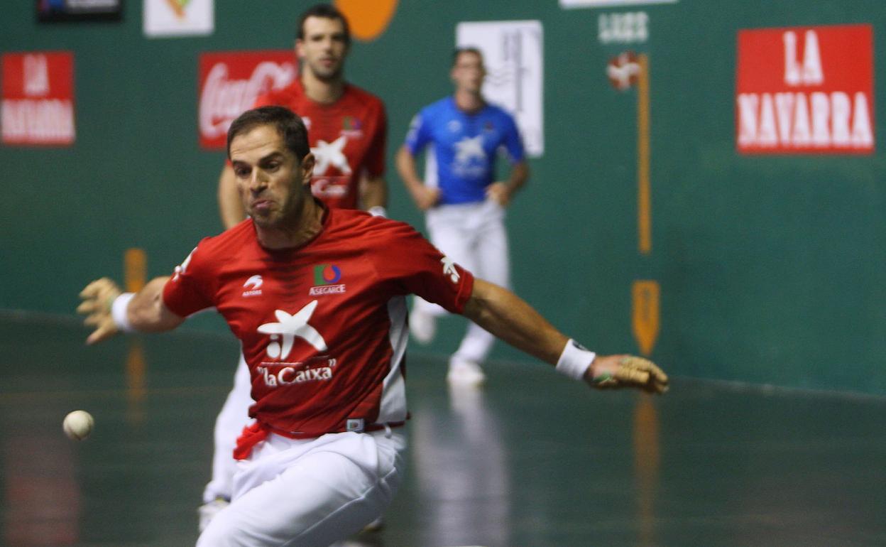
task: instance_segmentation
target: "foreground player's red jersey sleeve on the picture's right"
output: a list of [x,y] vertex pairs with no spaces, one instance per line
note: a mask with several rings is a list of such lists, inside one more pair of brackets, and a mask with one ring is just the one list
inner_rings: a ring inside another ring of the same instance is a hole
[[417,294],[461,314],[474,288],[473,274],[440,253],[407,223],[392,224],[388,237],[378,242],[373,254],[380,277],[394,285],[395,293]]

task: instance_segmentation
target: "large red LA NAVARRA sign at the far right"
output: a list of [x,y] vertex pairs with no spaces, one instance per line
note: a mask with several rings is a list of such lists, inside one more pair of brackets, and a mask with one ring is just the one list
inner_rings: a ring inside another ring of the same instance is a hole
[[736,73],[738,152],[874,152],[870,25],[741,30]]

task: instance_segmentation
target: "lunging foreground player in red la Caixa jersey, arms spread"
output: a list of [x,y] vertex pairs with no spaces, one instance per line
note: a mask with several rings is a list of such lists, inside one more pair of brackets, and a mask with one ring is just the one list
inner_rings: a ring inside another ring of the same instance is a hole
[[666,390],[655,364],[581,348],[407,224],[324,207],[308,188],[307,131],[288,109],[241,115],[228,152],[251,218],[202,240],[172,277],[139,293],[92,282],[78,308],[96,327],[90,344],[119,331],[171,330],[212,307],[241,341],[256,421],[234,451],[232,502],[198,546],[325,547],[390,504],[406,448],[410,293],[592,386]]

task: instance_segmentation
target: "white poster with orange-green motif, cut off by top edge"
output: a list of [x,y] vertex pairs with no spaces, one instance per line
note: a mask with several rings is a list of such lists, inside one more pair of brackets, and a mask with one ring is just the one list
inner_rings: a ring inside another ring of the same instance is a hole
[[144,35],[211,35],[215,27],[214,0],[143,0]]

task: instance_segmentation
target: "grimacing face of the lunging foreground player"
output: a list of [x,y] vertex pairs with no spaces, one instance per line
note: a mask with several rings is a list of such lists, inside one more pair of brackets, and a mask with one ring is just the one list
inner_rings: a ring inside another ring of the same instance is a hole
[[275,127],[260,125],[234,137],[230,160],[246,213],[256,225],[274,229],[298,223],[310,194],[313,155],[299,163]]

